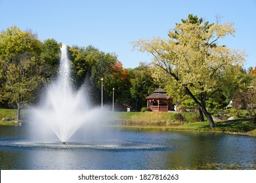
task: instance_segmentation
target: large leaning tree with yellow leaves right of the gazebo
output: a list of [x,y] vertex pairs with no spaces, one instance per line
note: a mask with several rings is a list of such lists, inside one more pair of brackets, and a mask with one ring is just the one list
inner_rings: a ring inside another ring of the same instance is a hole
[[168,39],[140,39],[134,42],[141,52],[154,56],[154,65],[165,71],[162,77],[174,78],[194,100],[211,127],[215,127],[215,123],[206,108],[206,101],[226,82],[237,79],[244,62],[244,52],[217,46],[219,39],[234,35],[232,25],[209,24],[202,18],[188,15],[187,20],[182,20],[182,24],[176,24],[169,31]]

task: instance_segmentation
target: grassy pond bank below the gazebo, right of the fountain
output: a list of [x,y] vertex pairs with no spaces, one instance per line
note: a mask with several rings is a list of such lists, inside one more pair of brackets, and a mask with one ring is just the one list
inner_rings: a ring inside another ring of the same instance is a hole
[[211,129],[209,122],[198,122],[192,112],[119,112],[119,123],[125,129],[158,131],[211,131],[256,136],[256,122],[249,119],[217,121]]

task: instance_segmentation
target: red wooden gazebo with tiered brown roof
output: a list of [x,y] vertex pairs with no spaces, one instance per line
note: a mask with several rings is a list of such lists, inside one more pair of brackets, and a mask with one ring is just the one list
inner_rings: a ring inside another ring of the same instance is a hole
[[146,107],[158,112],[172,110],[173,97],[168,97],[166,93],[161,87],[155,90],[152,95],[146,97]]

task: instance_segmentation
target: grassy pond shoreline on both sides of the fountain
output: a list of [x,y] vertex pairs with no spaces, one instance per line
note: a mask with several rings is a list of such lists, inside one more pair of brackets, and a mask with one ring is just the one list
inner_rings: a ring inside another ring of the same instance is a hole
[[[26,112],[24,112],[26,114]],[[123,129],[145,131],[205,131],[211,133],[229,133],[256,137],[256,122],[248,118],[234,120],[216,120],[216,127],[209,127],[209,122],[198,122],[196,112],[109,112],[106,124]],[[20,126],[25,121],[17,122],[16,110],[0,109],[0,117],[11,121],[1,121],[0,125]],[[23,116],[26,118],[26,115]]]

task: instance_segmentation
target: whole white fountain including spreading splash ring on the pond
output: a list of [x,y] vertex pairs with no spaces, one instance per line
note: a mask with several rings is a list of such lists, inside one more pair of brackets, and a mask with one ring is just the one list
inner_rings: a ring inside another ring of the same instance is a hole
[[62,45],[58,78],[50,84],[41,103],[31,112],[32,142],[13,142],[11,145],[73,150],[75,148],[103,150],[166,148],[158,144],[122,139],[120,130],[109,127],[107,123],[110,112],[99,107],[90,107],[85,88],[77,91],[72,89],[68,51],[66,45]]

